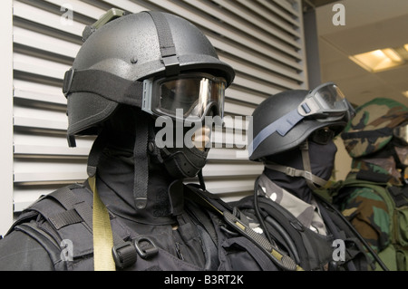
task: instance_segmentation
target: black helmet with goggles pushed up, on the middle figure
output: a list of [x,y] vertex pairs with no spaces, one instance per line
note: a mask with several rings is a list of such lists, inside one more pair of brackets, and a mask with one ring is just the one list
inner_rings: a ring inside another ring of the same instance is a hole
[[[322,88],[325,92],[319,92]],[[344,105],[345,110],[343,112],[334,110],[336,105],[333,105],[326,111],[312,113],[306,117],[301,116],[297,111],[303,111],[302,105],[306,103],[306,96],[319,93],[325,101]],[[338,98],[335,100],[336,94]],[[262,161],[268,156],[294,149],[312,132],[320,128],[330,127],[330,130],[335,131],[335,135],[340,133],[353,111],[351,106],[348,108],[346,106],[349,106],[349,103],[345,101],[334,83],[320,85],[313,92],[291,90],[267,98],[252,113],[254,140],[249,144],[249,159]],[[335,112],[332,113],[331,110]],[[272,127],[273,129],[268,129]],[[286,131],[282,132],[281,128]]]

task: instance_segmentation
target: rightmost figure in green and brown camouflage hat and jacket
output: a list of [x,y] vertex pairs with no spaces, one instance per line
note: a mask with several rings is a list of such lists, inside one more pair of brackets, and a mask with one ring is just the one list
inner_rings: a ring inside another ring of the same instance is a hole
[[408,108],[376,98],[355,111],[341,134],[352,170],[335,183],[333,202],[390,270],[408,270],[408,189],[397,169],[404,157],[396,150],[404,146],[398,128]]

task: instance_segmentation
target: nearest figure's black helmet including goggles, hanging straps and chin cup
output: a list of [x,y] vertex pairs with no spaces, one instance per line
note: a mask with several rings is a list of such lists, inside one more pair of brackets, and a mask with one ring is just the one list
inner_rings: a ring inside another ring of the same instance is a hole
[[[83,38],[73,68],[63,80],[69,145],[75,146],[75,135],[98,136],[88,158],[87,172],[92,178],[102,149],[116,129],[109,127],[115,121],[106,120],[117,120],[119,115],[120,123],[136,124],[133,197],[135,207],[144,209],[151,159],[163,164],[171,177],[186,178],[199,173],[208,154],[208,149],[195,147],[159,148],[151,117],[183,121],[190,116],[202,120],[206,114],[222,117],[224,92],[235,72],[219,61],[209,39],[196,26],[173,14],[112,9],[87,26]],[[119,107],[136,108],[131,110],[134,121],[127,120],[129,115],[123,115]],[[178,116],[180,109],[187,112]],[[154,158],[148,158],[148,153]]]

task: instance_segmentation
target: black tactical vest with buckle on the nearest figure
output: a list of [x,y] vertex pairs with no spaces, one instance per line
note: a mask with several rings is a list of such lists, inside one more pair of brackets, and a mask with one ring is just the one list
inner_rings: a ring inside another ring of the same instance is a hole
[[[262,239],[255,241],[254,236],[251,235],[254,232],[249,228],[244,234],[239,234],[238,225],[245,228],[244,215],[236,217],[227,212],[227,204],[216,198],[205,197],[199,188],[184,186],[184,189],[187,197],[186,212],[195,220],[201,236],[202,248],[207,256],[205,267],[189,264],[176,255],[171,255],[156,246],[152,236],[140,236],[130,232],[117,217],[110,214],[114,240],[112,255],[117,269],[282,270],[284,265],[279,264],[280,259],[276,260],[277,256],[267,253],[268,249],[265,248],[267,242],[262,243]],[[198,193],[200,196],[197,195]],[[195,200],[205,203],[206,207],[212,207],[212,209],[197,206]],[[225,216],[215,211],[223,212]],[[40,197],[32,206],[24,210],[8,234],[13,230],[24,232],[43,246],[55,270],[93,270],[92,193],[87,186],[71,185]],[[258,242],[257,245],[255,242]],[[69,251],[70,244],[73,245],[72,251]],[[288,269],[295,270],[296,266]]]

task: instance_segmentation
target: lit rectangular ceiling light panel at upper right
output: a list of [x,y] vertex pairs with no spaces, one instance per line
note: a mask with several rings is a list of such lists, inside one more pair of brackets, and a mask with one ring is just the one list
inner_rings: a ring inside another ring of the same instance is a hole
[[403,58],[392,48],[378,49],[349,57],[369,72],[379,72],[403,64]]

